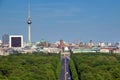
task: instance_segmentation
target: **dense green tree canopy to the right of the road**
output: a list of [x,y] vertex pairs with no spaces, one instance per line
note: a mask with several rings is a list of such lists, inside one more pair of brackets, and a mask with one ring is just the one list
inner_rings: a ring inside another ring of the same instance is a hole
[[120,55],[80,53],[72,59],[80,80],[120,80]]

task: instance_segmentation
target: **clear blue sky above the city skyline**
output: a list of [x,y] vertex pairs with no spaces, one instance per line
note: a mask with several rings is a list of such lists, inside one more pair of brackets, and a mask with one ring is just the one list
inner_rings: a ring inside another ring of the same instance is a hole
[[[0,39],[23,35],[28,0],[0,0]],[[30,0],[31,40],[119,42],[120,0]]]

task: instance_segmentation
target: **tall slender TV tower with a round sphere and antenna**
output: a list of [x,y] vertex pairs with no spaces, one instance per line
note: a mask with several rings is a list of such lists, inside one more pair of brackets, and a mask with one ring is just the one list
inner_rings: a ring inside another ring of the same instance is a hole
[[28,43],[31,43],[31,30],[30,30],[30,25],[31,25],[31,19],[30,19],[30,0],[28,2],[28,20],[27,20],[27,24],[28,24]]

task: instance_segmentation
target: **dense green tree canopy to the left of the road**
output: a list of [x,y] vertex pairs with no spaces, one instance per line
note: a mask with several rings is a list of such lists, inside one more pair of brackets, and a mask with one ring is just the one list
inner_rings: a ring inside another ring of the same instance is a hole
[[58,80],[58,54],[16,54],[0,56],[0,80]]

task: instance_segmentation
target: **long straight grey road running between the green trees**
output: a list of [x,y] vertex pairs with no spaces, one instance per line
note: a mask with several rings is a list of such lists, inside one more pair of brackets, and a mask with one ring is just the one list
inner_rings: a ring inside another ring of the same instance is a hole
[[61,68],[60,80],[72,80],[70,68],[69,68],[69,57],[62,56],[61,60],[62,60],[62,68]]

